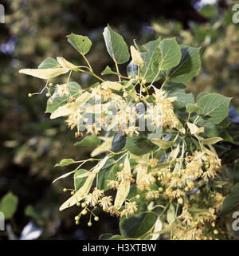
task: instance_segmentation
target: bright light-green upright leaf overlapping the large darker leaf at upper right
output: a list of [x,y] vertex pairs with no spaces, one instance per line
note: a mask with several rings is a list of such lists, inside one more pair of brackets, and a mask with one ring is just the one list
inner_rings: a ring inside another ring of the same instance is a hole
[[181,50],[175,37],[171,39],[163,39],[163,41],[160,42],[159,49],[162,53],[159,69],[171,69],[175,65],[178,65],[181,60]]

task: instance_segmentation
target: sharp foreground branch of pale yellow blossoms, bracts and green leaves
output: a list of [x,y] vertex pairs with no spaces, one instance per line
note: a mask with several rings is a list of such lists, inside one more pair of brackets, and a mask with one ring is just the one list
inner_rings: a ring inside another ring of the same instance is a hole
[[[108,26],[104,36],[107,30],[110,34],[115,33]],[[49,96],[51,118],[67,116],[65,123],[71,130],[76,128],[76,138],[84,134],[92,135],[86,136],[77,145],[97,147],[92,152],[92,158],[88,160],[70,159],[62,164],[60,162],[60,166],[80,163],[69,175],[74,173],[74,179],[85,179],[77,191],[71,189],[72,197],[61,205],[60,210],[75,204],[82,207],[80,214],[75,217],[76,224],[79,223],[81,215],[89,212],[88,226],[92,226],[92,215],[96,221],[99,220],[94,214],[97,207],[102,207],[109,215],[126,218],[129,215],[150,212],[156,215],[157,221],[153,226],[149,224],[148,231],[144,234],[147,238],[159,237],[159,231],[166,236],[170,234],[172,239],[217,238],[219,231],[212,228],[216,225],[215,220],[224,195],[215,186],[214,179],[221,170],[221,160],[212,144],[222,139],[206,139],[198,134],[204,132],[202,122],[199,121],[205,119],[219,124],[223,121],[223,116],[225,118],[226,110],[217,109],[223,113],[222,117],[213,116],[216,110],[208,95],[198,97],[195,101],[193,95],[186,95],[181,86],[171,86],[175,91],[168,89],[170,83],[189,81],[198,72],[199,49],[188,48],[186,58],[192,58],[188,61],[182,56],[185,52],[182,47],[187,46],[178,45],[175,38],[154,41],[153,51],[151,47],[140,47],[135,43],[135,46],[130,47],[134,64],[133,67],[130,66],[132,75],[122,76],[114,59],[116,72],[107,67],[102,75],[113,74],[119,80],[104,81],[93,72],[85,57],[91,41],[88,37],[84,37],[84,40],[82,38],[75,34],[69,35],[69,41],[84,57],[88,66],[76,66],[62,57],[57,57],[60,64],[58,69],[22,69],[22,73],[48,79],[41,92],[48,90],[46,96]],[[119,45],[123,47],[123,39],[119,38]],[[157,42],[158,45],[155,46]],[[108,40],[106,43],[108,44]],[[120,53],[118,56],[119,63],[127,62],[127,46],[124,51],[124,54]],[[213,55],[210,48],[206,55]],[[218,52],[217,56],[221,56],[221,53]],[[147,60],[148,57],[150,60]],[[192,70],[188,68],[190,63],[194,63]],[[72,72],[89,73],[99,82],[88,89],[81,89],[76,82],[69,82]],[[49,78],[64,73],[69,73],[66,83],[55,87],[52,83],[48,84]],[[155,81],[160,81],[159,78],[164,80],[160,89],[155,84]],[[29,96],[32,95],[29,93]],[[227,102],[229,104],[230,99],[217,93],[212,94],[212,97],[217,99],[215,102],[219,102],[218,108]],[[185,113],[179,120],[178,113],[182,112],[182,108]],[[209,112],[205,114],[206,110]],[[198,128],[198,125],[201,127]],[[146,138],[148,132],[151,132],[151,136]],[[99,135],[102,136],[96,137]],[[102,144],[101,140],[104,140]],[[113,149],[116,148],[114,146],[119,146],[119,149]],[[93,158],[101,157],[102,154],[105,154],[103,159]],[[76,171],[88,161],[99,163],[89,171],[75,176]],[[62,175],[58,179],[66,176]],[[95,180],[96,187],[92,188]],[[115,198],[112,194],[106,194],[108,189],[116,190]],[[147,211],[139,211],[146,207]],[[138,221],[137,218],[135,221]],[[163,222],[164,233],[159,230],[159,221]]]

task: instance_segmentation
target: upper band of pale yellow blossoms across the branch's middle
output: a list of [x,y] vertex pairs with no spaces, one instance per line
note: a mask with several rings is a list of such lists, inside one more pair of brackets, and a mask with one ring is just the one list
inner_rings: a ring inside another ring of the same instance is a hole
[[[178,116],[174,113],[174,106],[172,104],[176,97],[167,97],[167,93],[163,89],[155,89],[155,93],[153,93],[151,99],[148,95],[143,96],[143,94],[133,99],[131,93],[127,93],[123,85],[117,84],[118,86],[122,86],[119,89],[120,92],[117,91],[118,93],[114,93],[116,90],[111,89],[109,85],[112,85],[112,88],[116,86],[114,83],[104,82],[91,88],[91,93],[88,95],[88,99],[84,104],[88,104],[92,100],[95,104],[85,108],[80,105],[79,108],[67,110],[70,115],[65,122],[69,128],[73,129],[76,127],[77,132],[79,132],[80,124],[85,124],[87,134],[89,133],[95,136],[103,129],[106,131],[120,131],[127,136],[133,136],[134,134],[138,136],[140,127],[137,125],[139,111],[136,104],[140,100],[144,104],[144,107],[147,108],[143,113],[143,117],[149,123],[148,126],[153,128],[170,127],[176,128],[178,131],[183,131],[182,124],[178,120]],[[61,96],[69,96],[69,102],[71,102],[67,84],[57,85],[56,92]],[[72,104],[74,104],[74,101]],[[69,104],[69,109],[71,109],[71,104]],[[94,114],[94,118],[85,122],[84,114],[88,114],[89,112]],[[145,128],[145,125],[143,128]]]

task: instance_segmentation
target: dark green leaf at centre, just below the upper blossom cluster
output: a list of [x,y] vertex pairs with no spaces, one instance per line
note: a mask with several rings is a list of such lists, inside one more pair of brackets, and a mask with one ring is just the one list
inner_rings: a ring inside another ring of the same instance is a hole
[[139,136],[127,136],[124,148],[134,155],[141,156],[153,151],[157,146],[147,139],[147,133],[141,132]]

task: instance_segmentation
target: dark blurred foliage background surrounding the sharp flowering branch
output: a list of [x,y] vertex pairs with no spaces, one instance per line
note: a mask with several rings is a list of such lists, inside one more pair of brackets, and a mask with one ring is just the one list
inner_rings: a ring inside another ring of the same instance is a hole
[[[45,100],[42,96],[27,98],[29,92],[39,89],[38,80],[18,74],[23,67],[37,68],[42,59],[61,54],[80,65],[82,60],[65,43],[65,35],[87,34],[95,42],[88,60],[96,73],[112,64],[103,51],[101,31],[107,23],[117,26],[127,41],[136,38],[139,44],[160,35],[176,36],[178,42],[186,45],[202,45],[202,71],[187,89],[195,96],[202,91],[233,96],[233,105],[238,111],[238,26],[231,22],[232,13],[224,1],[197,11],[193,6],[198,2],[152,1],[142,7],[135,1],[104,0],[94,4],[76,0],[3,1],[6,24],[0,25],[0,199],[2,207],[7,195],[18,198],[18,211],[10,217],[10,229],[1,233],[2,238],[13,238],[12,233],[19,238],[29,220],[39,228],[44,227],[41,238],[96,239],[106,232],[119,233],[115,219],[108,216],[100,216],[101,221],[92,232],[86,226],[72,224],[73,210],[58,211],[67,198],[59,188],[70,187],[71,183],[65,179],[52,184],[53,179],[68,170],[53,166],[63,158],[86,158],[91,148],[79,152],[79,148],[72,145],[74,138],[61,119],[49,120],[43,114]],[[143,14],[142,8],[147,8]],[[85,88],[93,78],[72,79]],[[225,145],[219,148],[228,163],[233,162],[230,157],[238,155],[239,117],[234,108],[232,111],[232,125],[223,131],[228,148]],[[208,132],[212,129],[208,128]],[[233,163],[230,164],[225,168],[229,175],[233,170]],[[13,194],[9,194],[10,191]]]

